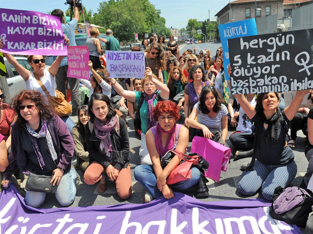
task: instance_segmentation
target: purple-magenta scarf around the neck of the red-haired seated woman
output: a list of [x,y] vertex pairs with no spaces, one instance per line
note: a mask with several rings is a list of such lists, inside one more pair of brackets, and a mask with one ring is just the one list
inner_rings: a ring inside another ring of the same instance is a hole
[[[156,129],[155,129],[156,133],[155,133],[155,136],[154,136],[154,142],[156,144],[156,150],[159,153],[160,158],[162,158],[167,151],[169,151],[170,149],[174,148],[174,144],[175,144],[175,130],[176,130],[176,122],[175,122],[174,126],[172,127],[172,129],[169,130],[169,131],[164,131],[164,129],[162,129],[160,127],[159,123],[156,124]],[[161,133],[169,133],[170,134],[168,136],[168,139],[167,139],[167,142],[166,142],[166,145],[165,145],[164,149],[163,149],[163,146],[162,146],[162,136],[161,136]]]

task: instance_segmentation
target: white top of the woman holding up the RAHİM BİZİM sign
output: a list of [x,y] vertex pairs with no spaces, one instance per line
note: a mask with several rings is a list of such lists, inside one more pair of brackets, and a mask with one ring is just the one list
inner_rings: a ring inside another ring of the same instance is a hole
[[[44,71],[44,76],[41,77],[40,80],[43,83],[43,85],[46,87],[49,94],[55,97],[57,94],[55,93],[54,77],[49,73],[48,70]],[[26,84],[26,89],[36,90],[42,93],[44,96],[46,96],[46,94],[44,93],[44,90],[39,85],[32,71],[30,72],[30,76],[28,80],[25,82],[25,84]]]

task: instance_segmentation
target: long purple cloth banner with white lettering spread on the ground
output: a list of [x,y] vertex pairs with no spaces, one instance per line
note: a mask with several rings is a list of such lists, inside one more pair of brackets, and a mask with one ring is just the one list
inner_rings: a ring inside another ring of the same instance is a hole
[[[271,218],[270,203],[201,202],[175,193],[147,204],[36,209],[10,183],[0,193],[1,233],[301,233]],[[40,215],[38,215],[40,214]]]

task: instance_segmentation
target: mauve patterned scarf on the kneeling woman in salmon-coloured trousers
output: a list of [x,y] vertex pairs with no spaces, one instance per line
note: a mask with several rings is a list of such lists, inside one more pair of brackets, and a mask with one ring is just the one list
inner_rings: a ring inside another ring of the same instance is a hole
[[109,158],[112,152],[110,131],[115,128],[117,124],[117,118],[117,115],[115,115],[106,123],[102,123],[98,118],[95,118],[94,121],[96,137],[101,140],[101,145],[103,146],[101,153]]

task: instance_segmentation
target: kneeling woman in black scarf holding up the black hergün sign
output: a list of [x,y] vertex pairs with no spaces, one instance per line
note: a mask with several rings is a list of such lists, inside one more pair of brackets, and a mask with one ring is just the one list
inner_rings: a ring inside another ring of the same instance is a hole
[[[228,74],[230,71],[228,68]],[[278,108],[280,98],[277,92],[260,93],[255,107],[243,94],[234,95],[251,119],[254,132],[253,156],[238,184],[240,193],[252,195],[261,188],[263,197],[271,200],[276,187],[285,188],[295,178],[297,164],[286,143],[286,134],[305,93],[306,90],[297,91],[291,105],[282,112]]]

